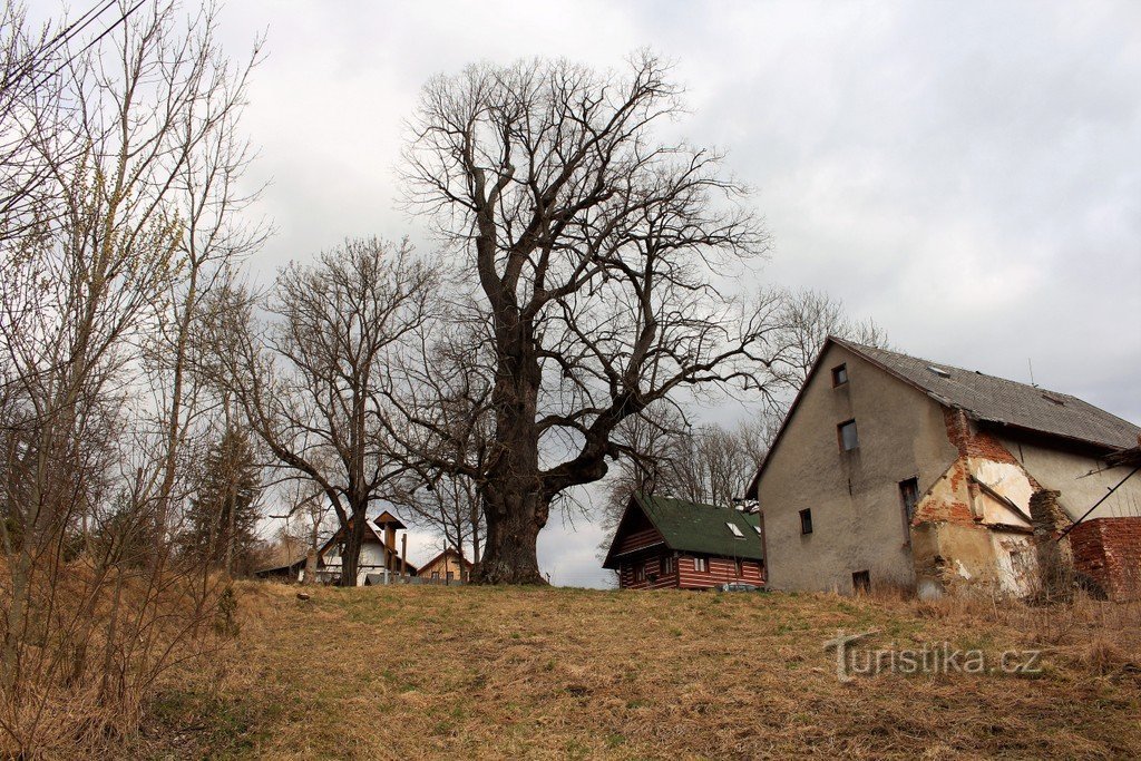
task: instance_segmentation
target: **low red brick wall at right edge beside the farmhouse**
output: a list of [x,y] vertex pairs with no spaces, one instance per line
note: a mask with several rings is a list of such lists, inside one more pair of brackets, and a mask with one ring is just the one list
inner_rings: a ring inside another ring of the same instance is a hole
[[1114,599],[1141,597],[1141,518],[1093,518],[1069,533],[1074,567]]

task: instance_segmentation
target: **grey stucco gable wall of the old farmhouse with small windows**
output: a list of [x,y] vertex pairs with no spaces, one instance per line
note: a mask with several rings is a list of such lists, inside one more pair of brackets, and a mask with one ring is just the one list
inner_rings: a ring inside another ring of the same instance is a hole
[[[840,364],[849,380],[834,388],[831,370]],[[852,419],[859,447],[842,452],[836,426]],[[873,585],[912,585],[899,483],[916,478],[923,493],[957,454],[937,403],[832,345],[758,483],[769,585],[850,592],[860,570]],[[812,511],[808,535],[800,529],[803,509]]]

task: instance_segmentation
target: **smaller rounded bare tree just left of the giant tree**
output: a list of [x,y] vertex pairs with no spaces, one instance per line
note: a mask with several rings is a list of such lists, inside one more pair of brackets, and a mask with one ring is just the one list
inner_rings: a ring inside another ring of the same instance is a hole
[[348,241],[281,272],[270,322],[251,303],[211,319],[218,377],[280,467],[317,484],[345,531],[342,585],[356,584],[370,504],[408,472],[389,440],[387,367],[428,318],[436,282],[407,243]]

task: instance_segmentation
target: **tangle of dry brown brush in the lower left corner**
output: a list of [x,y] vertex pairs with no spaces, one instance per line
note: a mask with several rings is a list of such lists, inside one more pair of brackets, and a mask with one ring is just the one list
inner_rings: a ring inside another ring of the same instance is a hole
[[[0,754],[104,754],[131,736],[173,667],[236,633],[234,597],[218,576],[177,568],[97,568],[76,560],[30,590],[0,702]],[[3,613],[8,590],[0,593]]]

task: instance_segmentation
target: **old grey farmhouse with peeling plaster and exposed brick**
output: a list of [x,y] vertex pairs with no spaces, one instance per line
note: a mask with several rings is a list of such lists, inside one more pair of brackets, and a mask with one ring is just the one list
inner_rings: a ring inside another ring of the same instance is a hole
[[768,583],[1133,594],[1139,434],[1074,396],[830,338],[750,486]]

